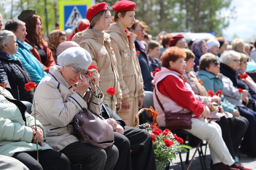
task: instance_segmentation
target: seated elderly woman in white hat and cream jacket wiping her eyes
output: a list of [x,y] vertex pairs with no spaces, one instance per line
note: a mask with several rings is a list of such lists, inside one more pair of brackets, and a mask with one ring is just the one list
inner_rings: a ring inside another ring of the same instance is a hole
[[[87,108],[83,96],[89,88],[89,79],[99,87],[100,74],[96,69],[87,70],[91,62],[90,54],[81,47],[70,47],[61,53],[58,56],[60,66],[51,67],[37,86],[34,95],[37,105],[32,113],[35,111],[37,119],[44,125],[44,142],[64,153],[71,162],[81,164],[81,169],[113,169],[118,158],[116,146],[103,149],[80,143],[70,124],[76,114]],[[76,83],[74,90],[72,86]],[[92,91],[96,93],[93,86]],[[102,103],[104,95],[101,92],[98,95]],[[88,109],[100,113],[97,103],[95,97]]]

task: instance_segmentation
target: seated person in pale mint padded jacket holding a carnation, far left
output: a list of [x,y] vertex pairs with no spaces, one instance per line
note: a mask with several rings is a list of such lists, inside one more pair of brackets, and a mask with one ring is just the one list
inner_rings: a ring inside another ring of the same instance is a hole
[[[0,87],[0,155],[13,157],[30,170],[69,170],[69,159],[43,143],[44,127],[27,112],[27,107]],[[36,161],[38,139],[39,162]]]

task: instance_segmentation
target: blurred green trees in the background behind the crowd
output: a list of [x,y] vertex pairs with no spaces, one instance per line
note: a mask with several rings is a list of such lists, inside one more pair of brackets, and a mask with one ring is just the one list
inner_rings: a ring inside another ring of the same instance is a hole
[[[12,15],[11,3],[13,2]],[[60,0],[0,0],[0,13],[4,23],[17,18],[22,10],[34,9],[41,16],[46,34],[47,2],[48,32],[54,30],[58,22],[58,8]],[[146,22],[153,36],[160,31],[166,32],[215,32],[216,36],[229,25],[229,19],[234,18],[235,9],[229,9],[232,0],[132,0],[136,2],[136,19]],[[98,0],[107,2],[111,7],[117,0]],[[57,16],[54,7],[56,3]],[[6,8],[8,6],[8,8]],[[221,12],[220,12],[221,11]],[[114,11],[111,11],[114,15]],[[56,21],[55,21],[56,18]]]

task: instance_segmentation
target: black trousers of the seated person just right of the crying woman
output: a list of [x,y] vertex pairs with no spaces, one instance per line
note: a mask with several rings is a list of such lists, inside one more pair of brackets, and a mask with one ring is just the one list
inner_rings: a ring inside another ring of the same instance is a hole
[[147,131],[124,126],[124,135],[114,132],[114,136],[119,150],[114,170],[156,170],[152,138]]

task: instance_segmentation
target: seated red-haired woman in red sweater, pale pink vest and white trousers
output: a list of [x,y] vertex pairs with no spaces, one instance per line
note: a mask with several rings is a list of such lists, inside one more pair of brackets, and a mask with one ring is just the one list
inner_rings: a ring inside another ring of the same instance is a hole
[[[235,164],[230,155],[221,137],[220,126],[215,122],[209,124],[205,122],[204,118],[209,116],[210,110],[204,106],[203,102],[195,99],[195,93],[182,75],[186,68],[185,59],[186,53],[178,47],[170,47],[161,55],[162,69],[155,74],[153,80],[155,85],[154,106],[159,113],[157,119],[159,125],[165,125],[165,118],[156,95],[166,111],[180,112],[180,115],[192,112],[192,128],[184,130],[208,142],[213,162],[212,169],[237,168],[240,165]],[[245,168],[243,167],[243,169]]]

